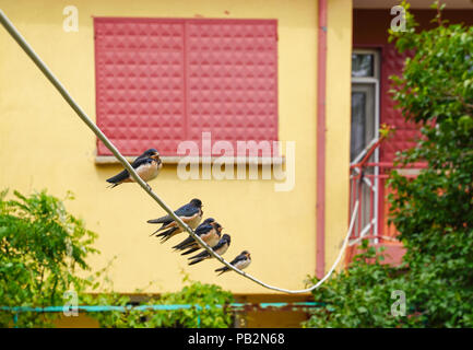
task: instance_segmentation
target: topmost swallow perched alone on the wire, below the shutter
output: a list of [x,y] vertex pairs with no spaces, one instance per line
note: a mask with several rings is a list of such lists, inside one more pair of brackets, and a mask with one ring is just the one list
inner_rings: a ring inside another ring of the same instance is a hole
[[[163,162],[161,161],[159,153],[155,149],[149,149],[139,155],[131,166],[138,173],[138,175],[146,183],[152,180],[159,174],[163,167]],[[133,178],[130,176],[127,170],[121,173],[107,178],[107,183],[110,183],[110,187],[114,188],[123,183],[132,183]]]

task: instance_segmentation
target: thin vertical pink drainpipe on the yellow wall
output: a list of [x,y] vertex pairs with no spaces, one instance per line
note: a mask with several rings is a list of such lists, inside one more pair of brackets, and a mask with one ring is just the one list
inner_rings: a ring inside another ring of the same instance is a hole
[[318,0],[316,276],[319,279],[326,273],[327,10],[327,0]]

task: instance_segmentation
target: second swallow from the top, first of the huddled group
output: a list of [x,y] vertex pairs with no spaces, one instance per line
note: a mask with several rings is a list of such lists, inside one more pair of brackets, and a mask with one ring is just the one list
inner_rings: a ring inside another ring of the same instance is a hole
[[[202,201],[198,198],[193,198],[187,205],[180,207],[174,212],[177,217],[180,218],[189,228],[192,230],[197,228],[197,225],[202,220]],[[210,218],[213,220],[212,218]],[[208,219],[209,220],[209,219]],[[170,215],[161,217],[157,219],[147,220],[147,223],[161,223],[161,228],[153,232],[151,235],[155,233],[166,230],[165,232],[159,233],[157,236],[161,237],[162,243],[166,242],[170,237],[175,236],[178,233],[184,232],[184,229],[178,225],[176,221]]]

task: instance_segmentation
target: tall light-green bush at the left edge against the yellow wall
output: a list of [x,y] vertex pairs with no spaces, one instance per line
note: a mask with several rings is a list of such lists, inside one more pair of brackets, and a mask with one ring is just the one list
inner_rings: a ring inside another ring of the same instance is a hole
[[[11,200],[7,194],[0,194],[0,305],[62,305],[64,292],[79,293],[92,283],[78,277],[76,269],[90,269],[85,257],[97,253],[95,233],[46,191],[29,197],[14,191]],[[54,318],[25,313],[16,326],[47,326]],[[12,319],[11,312],[0,312],[1,327]]]

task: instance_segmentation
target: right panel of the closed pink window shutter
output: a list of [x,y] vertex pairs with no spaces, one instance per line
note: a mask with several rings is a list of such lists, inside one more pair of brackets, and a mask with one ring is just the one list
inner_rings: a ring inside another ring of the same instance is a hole
[[[188,138],[277,140],[276,21],[188,22]],[[260,154],[262,155],[262,154]]]

